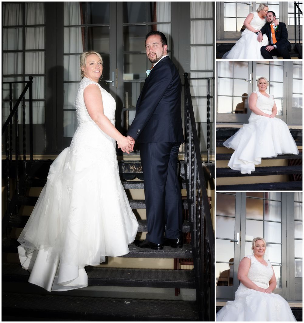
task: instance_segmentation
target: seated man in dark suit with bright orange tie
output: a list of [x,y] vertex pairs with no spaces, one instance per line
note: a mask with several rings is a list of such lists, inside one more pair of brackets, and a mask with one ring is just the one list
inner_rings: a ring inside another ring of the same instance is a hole
[[258,32],[258,41],[261,42],[263,34],[268,37],[269,45],[261,47],[261,54],[265,59],[273,59],[272,56],[279,55],[284,59],[291,59],[289,52],[291,46],[288,41],[288,33],[286,25],[280,22],[278,26],[274,26],[276,14],[273,11],[268,11],[266,15],[267,23]]

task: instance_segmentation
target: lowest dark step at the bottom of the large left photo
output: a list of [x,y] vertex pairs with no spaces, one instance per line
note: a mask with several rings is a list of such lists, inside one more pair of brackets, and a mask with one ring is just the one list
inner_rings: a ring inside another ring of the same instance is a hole
[[2,319],[12,316],[19,320],[197,321],[198,309],[190,301],[2,293]]

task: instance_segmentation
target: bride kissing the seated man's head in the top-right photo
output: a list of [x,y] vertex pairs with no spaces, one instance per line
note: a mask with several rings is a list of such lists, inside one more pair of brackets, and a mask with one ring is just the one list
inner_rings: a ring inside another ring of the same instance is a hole
[[[225,53],[222,59],[264,59],[261,55],[261,47],[268,45],[268,38],[263,35],[261,42],[258,41],[257,32],[266,24],[268,6],[260,4],[257,11],[252,11],[245,19],[245,30],[241,38],[235,43],[229,52]],[[279,21],[275,20],[275,26]]]

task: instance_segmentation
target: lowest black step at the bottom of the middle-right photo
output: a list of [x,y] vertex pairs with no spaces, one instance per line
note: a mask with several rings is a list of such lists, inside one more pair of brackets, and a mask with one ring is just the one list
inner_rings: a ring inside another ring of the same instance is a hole
[[277,183],[255,183],[255,184],[234,184],[217,185],[217,191],[302,191],[302,181],[277,182]]

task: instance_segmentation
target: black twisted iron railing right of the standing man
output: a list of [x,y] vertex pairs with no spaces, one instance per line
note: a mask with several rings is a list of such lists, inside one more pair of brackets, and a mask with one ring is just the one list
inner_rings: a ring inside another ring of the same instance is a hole
[[[190,78],[196,79],[196,78]],[[210,80],[207,80],[207,156],[210,155]],[[188,73],[185,81],[185,178],[200,319],[214,321],[214,232]],[[209,152],[208,152],[209,150]]]

